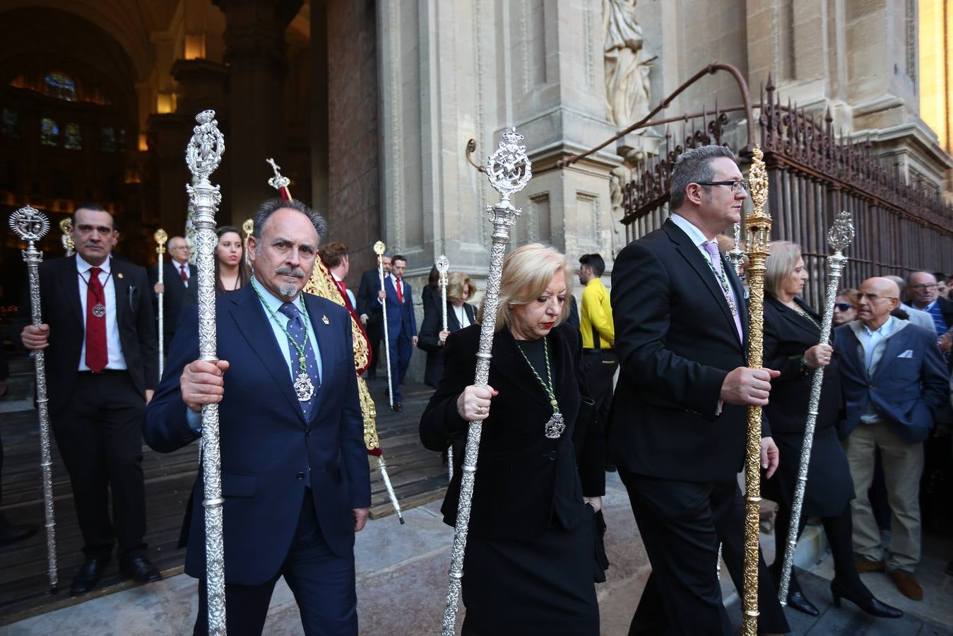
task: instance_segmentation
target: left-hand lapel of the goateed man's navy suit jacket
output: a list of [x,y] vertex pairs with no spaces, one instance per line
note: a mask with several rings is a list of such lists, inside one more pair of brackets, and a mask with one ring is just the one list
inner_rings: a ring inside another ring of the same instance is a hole
[[237,292],[220,296],[224,301],[229,301],[228,309],[232,314],[238,330],[248,341],[249,348],[261,360],[262,365],[272,376],[274,383],[278,385],[281,394],[294,407],[294,413],[301,421],[304,421],[304,413],[301,411],[301,404],[294,396],[293,382],[288,371],[288,360],[281,356],[281,348],[274,341],[272,336],[272,325],[265,314],[265,308],[261,306],[261,301],[254,294],[252,285],[247,285]]

